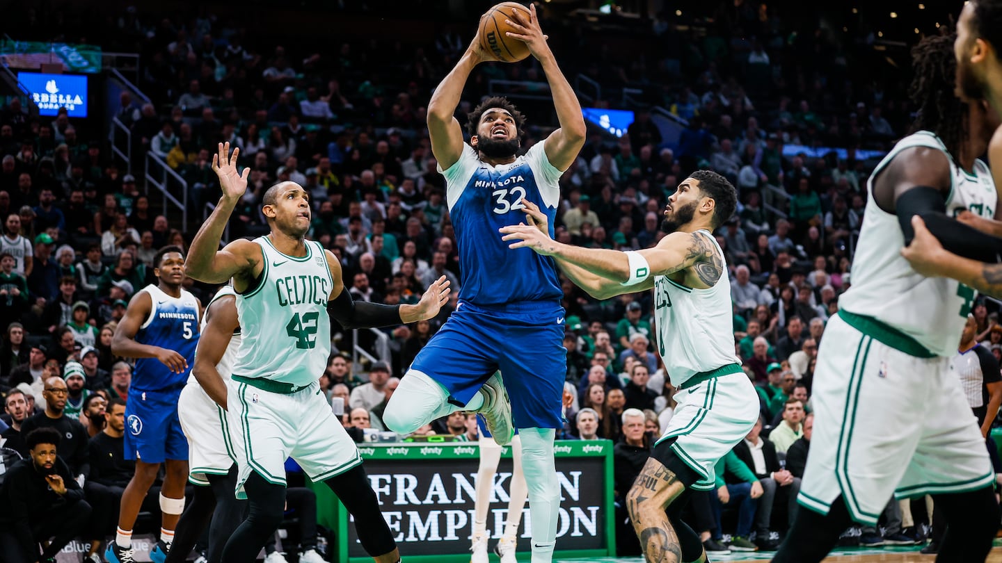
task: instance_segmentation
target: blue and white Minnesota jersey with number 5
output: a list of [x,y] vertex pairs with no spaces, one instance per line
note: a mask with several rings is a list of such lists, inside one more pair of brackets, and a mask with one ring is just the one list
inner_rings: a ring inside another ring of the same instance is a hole
[[180,298],[172,298],[153,285],[142,291],[149,294],[152,310],[135,334],[135,342],[173,350],[187,360],[188,367],[175,374],[156,358],[139,358],[135,361],[129,391],[161,391],[182,386],[194,365],[194,349],[198,345],[198,302],[184,290]]

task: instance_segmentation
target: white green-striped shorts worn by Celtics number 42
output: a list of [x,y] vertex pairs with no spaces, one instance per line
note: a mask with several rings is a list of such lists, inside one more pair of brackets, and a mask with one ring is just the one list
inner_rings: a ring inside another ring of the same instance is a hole
[[250,472],[286,485],[286,460],[293,458],[315,483],[362,463],[362,456],[318,383],[291,394],[273,393],[230,381],[227,417],[239,477],[237,498]]

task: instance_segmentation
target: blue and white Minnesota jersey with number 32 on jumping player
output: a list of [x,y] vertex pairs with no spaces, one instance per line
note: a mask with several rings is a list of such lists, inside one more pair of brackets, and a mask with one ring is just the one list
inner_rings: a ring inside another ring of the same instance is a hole
[[550,236],[563,173],[550,164],[543,143],[510,164],[491,166],[463,143],[463,153],[448,170],[446,199],[456,230],[462,267],[459,301],[476,306],[518,302],[559,302],[563,296],[556,264],[529,248],[508,248],[498,229],[525,221],[522,199],[549,217]]

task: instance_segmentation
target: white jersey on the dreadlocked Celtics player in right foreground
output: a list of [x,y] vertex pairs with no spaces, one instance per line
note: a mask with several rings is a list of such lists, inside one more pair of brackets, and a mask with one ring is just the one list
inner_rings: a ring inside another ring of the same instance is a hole
[[901,257],[905,236],[898,216],[881,209],[873,197],[873,178],[899,152],[915,146],[942,150],[950,160],[953,188],[946,202],[949,216],[964,209],[989,218],[995,215],[998,193],[984,162],[975,160],[971,174],[954,162],[933,133],[919,131],[901,139],[867,182],[870,197],[853,258],[852,287],[840,298],[839,306],[897,329],[937,356],[951,357],[957,353],[975,292],[954,279],[925,277],[912,269]]

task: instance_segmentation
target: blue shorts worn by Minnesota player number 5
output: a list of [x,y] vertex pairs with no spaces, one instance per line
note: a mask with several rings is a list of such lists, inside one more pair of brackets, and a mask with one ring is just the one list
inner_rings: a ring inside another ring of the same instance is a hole
[[187,440],[177,419],[184,386],[162,391],[129,390],[125,402],[125,459],[144,463],[187,461]]

